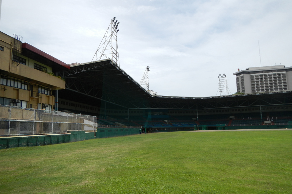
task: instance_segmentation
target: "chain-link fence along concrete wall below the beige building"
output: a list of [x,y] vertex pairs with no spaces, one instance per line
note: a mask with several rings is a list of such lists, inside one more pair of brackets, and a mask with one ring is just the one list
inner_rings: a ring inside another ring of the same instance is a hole
[[96,116],[0,105],[0,136],[95,131]]

